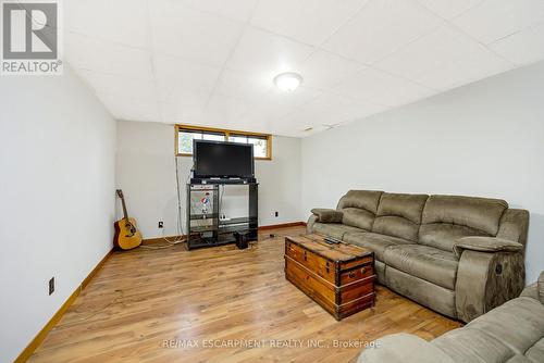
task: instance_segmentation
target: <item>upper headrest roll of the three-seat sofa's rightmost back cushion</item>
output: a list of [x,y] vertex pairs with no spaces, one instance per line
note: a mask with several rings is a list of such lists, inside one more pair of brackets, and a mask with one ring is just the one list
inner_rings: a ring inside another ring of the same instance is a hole
[[495,236],[507,208],[508,203],[500,199],[431,196],[423,209],[422,224],[455,224]]

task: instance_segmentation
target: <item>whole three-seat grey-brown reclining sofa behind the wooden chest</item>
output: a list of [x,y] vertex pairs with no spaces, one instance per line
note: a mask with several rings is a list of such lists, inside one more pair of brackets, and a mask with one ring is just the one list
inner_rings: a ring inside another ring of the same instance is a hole
[[350,190],[307,229],[370,248],[379,283],[469,322],[521,292],[528,225],[498,199]]

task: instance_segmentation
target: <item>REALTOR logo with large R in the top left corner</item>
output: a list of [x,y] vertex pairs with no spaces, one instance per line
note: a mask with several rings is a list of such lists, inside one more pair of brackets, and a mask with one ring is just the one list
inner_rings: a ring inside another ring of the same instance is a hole
[[0,0],[2,75],[62,74],[57,0]]

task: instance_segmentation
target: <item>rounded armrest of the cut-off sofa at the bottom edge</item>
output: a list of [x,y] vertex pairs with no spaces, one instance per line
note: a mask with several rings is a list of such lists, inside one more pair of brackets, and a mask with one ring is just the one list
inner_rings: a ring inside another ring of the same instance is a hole
[[361,352],[357,363],[454,363],[443,350],[415,335],[393,334],[375,342],[375,348]]

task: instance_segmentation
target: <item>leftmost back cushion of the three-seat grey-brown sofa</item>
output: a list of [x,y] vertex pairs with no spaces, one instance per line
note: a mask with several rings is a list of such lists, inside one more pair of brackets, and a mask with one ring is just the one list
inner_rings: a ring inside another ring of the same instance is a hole
[[338,201],[336,209],[344,212],[343,224],[371,230],[383,191],[349,190]]

